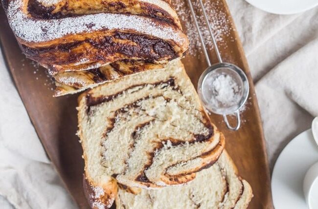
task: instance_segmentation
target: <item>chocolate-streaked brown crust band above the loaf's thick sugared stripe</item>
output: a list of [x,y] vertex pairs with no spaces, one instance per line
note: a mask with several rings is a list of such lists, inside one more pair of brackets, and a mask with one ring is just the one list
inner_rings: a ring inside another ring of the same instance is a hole
[[[169,0],[163,1],[171,4]],[[182,29],[179,19],[174,19],[155,4],[139,0],[61,0],[54,5],[43,5],[38,0],[28,0],[25,5],[29,15],[39,19],[52,20],[98,13],[121,13],[150,16],[173,23]]]

